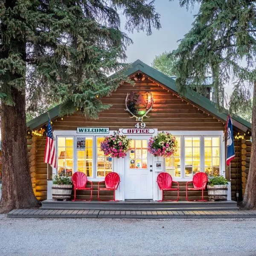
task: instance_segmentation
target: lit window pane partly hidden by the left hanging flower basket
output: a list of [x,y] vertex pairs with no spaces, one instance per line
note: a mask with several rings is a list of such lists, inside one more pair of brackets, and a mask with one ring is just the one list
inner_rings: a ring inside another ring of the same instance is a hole
[[104,155],[100,150],[100,143],[104,140],[103,137],[97,138],[97,177],[105,177],[108,173],[112,172],[112,157]]

